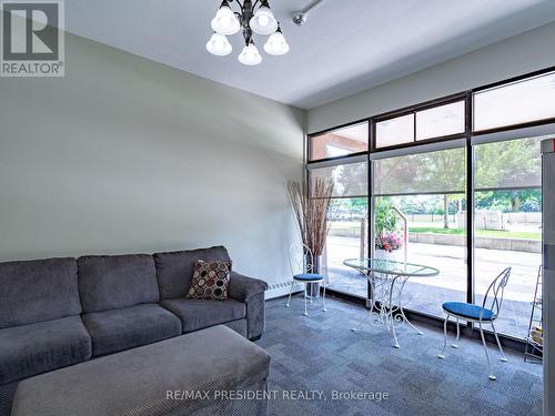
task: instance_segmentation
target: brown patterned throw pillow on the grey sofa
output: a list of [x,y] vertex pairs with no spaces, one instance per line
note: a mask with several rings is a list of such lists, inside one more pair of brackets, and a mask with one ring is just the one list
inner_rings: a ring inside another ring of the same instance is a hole
[[193,282],[186,297],[190,300],[225,301],[230,273],[231,262],[198,260],[194,264]]

